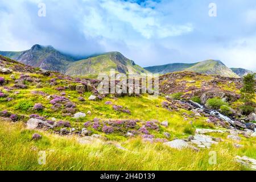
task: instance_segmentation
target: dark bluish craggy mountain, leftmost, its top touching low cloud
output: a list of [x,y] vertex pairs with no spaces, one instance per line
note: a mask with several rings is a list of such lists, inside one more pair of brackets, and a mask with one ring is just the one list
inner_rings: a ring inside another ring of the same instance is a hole
[[63,55],[51,46],[34,45],[31,49],[22,52],[0,52],[1,55],[15,59],[20,63],[39,67],[49,71],[65,73],[68,65],[74,60]]

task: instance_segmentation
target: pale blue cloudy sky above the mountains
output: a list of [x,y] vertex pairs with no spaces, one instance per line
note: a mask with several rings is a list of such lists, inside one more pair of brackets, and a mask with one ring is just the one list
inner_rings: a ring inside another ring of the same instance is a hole
[[119,51],[142,67],[214,59],[256,71],[255,0],[1,0],[0,35],[2,51],[41,44]]

